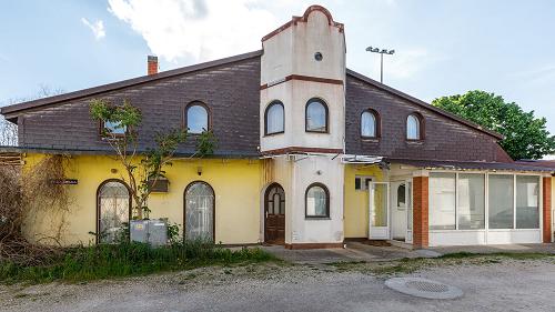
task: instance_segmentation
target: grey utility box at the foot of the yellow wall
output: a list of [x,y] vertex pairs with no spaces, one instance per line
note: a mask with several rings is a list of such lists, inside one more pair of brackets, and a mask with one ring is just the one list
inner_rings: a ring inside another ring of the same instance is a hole
[[148,243],[152,246],[168,244],[168,220],[131,220],[130,239],[132,242]]

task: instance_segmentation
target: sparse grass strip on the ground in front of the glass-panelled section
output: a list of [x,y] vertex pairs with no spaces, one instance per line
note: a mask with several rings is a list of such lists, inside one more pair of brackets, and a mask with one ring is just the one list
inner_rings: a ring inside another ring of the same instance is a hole
[[447,265],[490,265],[502,263],[504,260],[555,260],[555,254],[548,253],[519,253],[496,252],[488,254],[457,252],[448,253],[438,258],[414,258],[384,262],[336,262],[330,263],[339,272],[357,271],[374,275],[410,274],[426,268]]

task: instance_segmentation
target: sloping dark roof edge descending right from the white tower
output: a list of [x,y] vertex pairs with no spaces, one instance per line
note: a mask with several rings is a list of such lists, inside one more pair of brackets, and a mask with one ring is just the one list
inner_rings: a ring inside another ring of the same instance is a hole
[[366,83],[370,83],[370,84],[372,84],[372,85],[374,85],[374,87],[376,87],[376,88],[379,88],[381,90],[384,90],[384,91],[387,91],[390,93],[393,93],[393,94],[395,94],[395,95],[397,95],[400,98],[408,100],[408,101],[411,101],[411,102],[413,102],[413,103],[415,103],[415,104],[417,104],[420,107],[423,107],[423,108],[425,108],[427,110],[431,110],[433,112],[442,114],[442,115],[444,115],[444,117],[446,117],[448,119],[452,119],[452,120],[454,120],[456,122],[460,122],[460,123],[463,123],[463,124],[465,124],[467,127],[474,128],[474,129],[476,129],[476,130],[478,130],[481,132],[484,132],[484,133],[486,133],[486,134],[488,134],[491,137],[494,137],[494,138],[496,138],[498,140],[503,140],[504,139],[503,134],[501,134],[501,133],[498,133],[496,131],[493,131],[493,130],[490,130],[490,129],[485,129],[485,128],[483,128],[482,125],[480,125],[480,124],[477,124],[475,122],[472,122],[472,121],[466,120],[464,118],[461,118],[461,117],[458,117],[456,114],[453,114],[453,113],[451,113],[448,111],[445,111],[445,110],[442,110],[440,108],[436,108],[436,107],[434,107],[434,105],[432,105],[430,103],[426,103],[426,102],[424,102],[424,101],[422,101],[420,99],[416,99],[416,98],[414,98],[414,97],[412,97],[412,95],[410,95],[410,94],[407,94],[407,93],[405,93],[403,91],[400,91],[397,89],[394,89],[392,87],[389,87],[386,84],[377,82],[376,80],[374,80],[372,78],[369,78],[369,77],[366,77],[366,76],[364,76],[362,73],[359,73],[359,72],[356,72],[354,70],[346,69],[346,74],[347,76],[352,76],[352,77],[354,77],[354,78],[356,78],[359,80],[362,80],[362,81],[364,81]]

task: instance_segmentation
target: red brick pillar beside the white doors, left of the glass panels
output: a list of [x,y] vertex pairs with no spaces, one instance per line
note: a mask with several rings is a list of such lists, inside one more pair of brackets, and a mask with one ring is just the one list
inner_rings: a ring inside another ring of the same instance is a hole
[[427,248],[427,177],[413,177],[413,245]]

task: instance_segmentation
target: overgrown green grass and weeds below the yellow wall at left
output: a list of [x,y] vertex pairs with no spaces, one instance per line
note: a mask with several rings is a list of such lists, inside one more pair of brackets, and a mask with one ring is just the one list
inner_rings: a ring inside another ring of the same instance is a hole
[[24,266],[0,261],[0,283],[84,282],[274,260],[272,254],[258,248],[231,251],[204,242],[174,243],[162,248],[143,243],[101,244],[67,249],[63,255],[44,265]]

